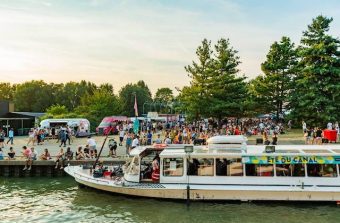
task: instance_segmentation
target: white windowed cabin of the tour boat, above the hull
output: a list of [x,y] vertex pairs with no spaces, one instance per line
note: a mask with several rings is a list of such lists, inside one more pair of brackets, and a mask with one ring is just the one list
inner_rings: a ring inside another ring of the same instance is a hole
[[339,177],[340,146],[247,146],[246,141],[243,136],[216,136],[192,152],[185,149],[192,145],[182,144],[138,147],[130,154],[133,159],[124,178],[152,182],[152,161],[159,154],[162,184],[296,185],[303,178],[315,185],[315,177],[322,179],[321,185],[339,184],[330,179]]

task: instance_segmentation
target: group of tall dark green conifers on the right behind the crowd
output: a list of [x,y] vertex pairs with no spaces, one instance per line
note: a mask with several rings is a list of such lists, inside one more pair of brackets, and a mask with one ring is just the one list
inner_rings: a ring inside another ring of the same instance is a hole
[[329,34],[332,20],[314,18],[298,46],[286,36],[275,41],[263,73],[249,81],[239,74],[241,61],[229,39],[213,46],[204,39],[196,61],[185,67],[191,81],[180,91],[183,109],[193,119],[286,112],[312,126],[339,121],[340,41]]

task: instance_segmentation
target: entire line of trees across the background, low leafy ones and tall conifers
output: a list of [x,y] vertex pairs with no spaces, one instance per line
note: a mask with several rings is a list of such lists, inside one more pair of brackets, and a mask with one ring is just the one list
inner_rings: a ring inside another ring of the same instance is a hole
[[264,113],[279,117],[289,111],[288,118],[295,123],[304,120],[323,126],[340,118],[340,41],[329,34],[332,20],[314,18],[298,45],[286,36],[275,41],[261,64],[262,74],[251,80],[240,75],[241,60],[229,39],[221,38],[216,44],[204,39],[196,60],[185,66],[190,84],[178,89],[177,97],[170,88],[160,88],[152,97],[144,81],[125,85],[116,95],[109,83],[33,80],[0,83],[0,100],[13,100],[17,111],[86,117],[95,125],[104,116],[134,116],[136,95],[139,114],[177,111],[190,120],[221,120]]

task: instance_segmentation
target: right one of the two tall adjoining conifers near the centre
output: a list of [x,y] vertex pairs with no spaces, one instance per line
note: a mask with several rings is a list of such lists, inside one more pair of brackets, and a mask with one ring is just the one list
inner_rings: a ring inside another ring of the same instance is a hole
[[237,51],[230,46],[229,39],[220,39],[215,45],[213,71],[208,81],[211,103],[210,116],[221,120],[223,117],[241,117],[247,98],[244,76],[238,76],[241,63]]

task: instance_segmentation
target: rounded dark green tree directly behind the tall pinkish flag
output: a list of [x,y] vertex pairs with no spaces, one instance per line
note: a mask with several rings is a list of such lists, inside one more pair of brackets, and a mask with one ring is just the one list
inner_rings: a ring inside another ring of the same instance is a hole
[[122,106],[124,115],[135,116],[134,103],[135,95],[137,98],[138,113],[143,113],[143,105],[152,102],[151,92],[144,81],[139,81],[137,84],[127,84],[119,91],[119,100]]

